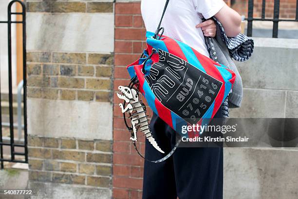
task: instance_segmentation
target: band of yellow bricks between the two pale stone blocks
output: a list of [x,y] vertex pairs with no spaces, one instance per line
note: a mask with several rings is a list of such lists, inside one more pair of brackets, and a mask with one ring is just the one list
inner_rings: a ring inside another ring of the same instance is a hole
[[29,51],[27,96],[110,102],[112,64],[111,54]]

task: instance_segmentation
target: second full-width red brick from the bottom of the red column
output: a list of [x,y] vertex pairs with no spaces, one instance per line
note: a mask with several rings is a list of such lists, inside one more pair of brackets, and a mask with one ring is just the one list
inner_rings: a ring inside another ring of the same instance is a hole
[[124,165],[134,165],[143,166],[144,160],[138,154],[114,154],[113,155],[114,164],[124,164]]

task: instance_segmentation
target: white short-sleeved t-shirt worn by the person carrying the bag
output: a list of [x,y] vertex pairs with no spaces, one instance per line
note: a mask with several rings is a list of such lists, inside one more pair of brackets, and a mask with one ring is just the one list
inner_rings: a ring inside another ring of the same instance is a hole
[[[166,0],[142,0],[141,12],[147,31],[155,32]],[[213,17],[224,5],[223,0],[170,0],[161,27],[164,35],[180,40],[209,57],[204,34],[196,25]]]

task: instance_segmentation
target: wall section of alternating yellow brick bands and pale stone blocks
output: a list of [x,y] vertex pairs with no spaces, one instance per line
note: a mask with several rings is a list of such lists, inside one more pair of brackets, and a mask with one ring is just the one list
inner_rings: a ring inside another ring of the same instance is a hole
[[37,198],[84,186],[82,198],[110,199],[114,4],[26,6],[29,187]]

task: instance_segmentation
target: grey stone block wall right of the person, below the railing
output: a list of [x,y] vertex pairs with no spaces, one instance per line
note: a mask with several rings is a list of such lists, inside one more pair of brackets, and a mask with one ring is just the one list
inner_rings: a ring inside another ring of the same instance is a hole
[[[298,40],[254,38],[254,42],[251,59],[236,62],[243,100],[230,117],[298,118]],[[255,135],[267,136],[260,128],[252,129]],[[297,147],[224,148],[224,197],[297,199],[293,175],[297,156]]]

